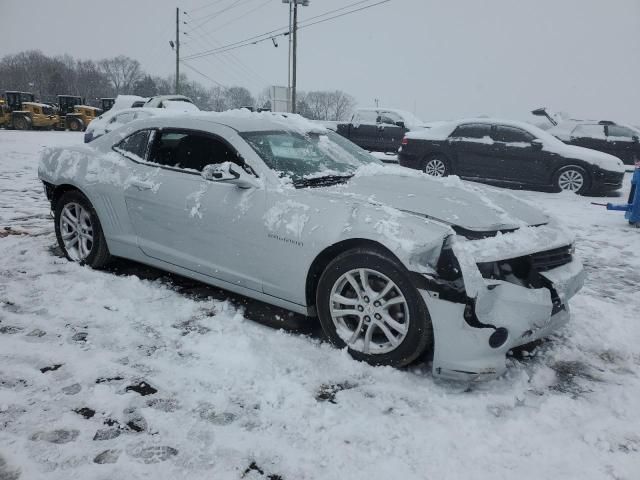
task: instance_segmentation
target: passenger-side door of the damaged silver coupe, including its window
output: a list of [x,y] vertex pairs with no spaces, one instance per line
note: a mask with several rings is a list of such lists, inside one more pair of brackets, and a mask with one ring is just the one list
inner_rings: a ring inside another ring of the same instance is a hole
[[133,175],[125,202],[140,250],[150,258],[261,291],[262,280],[252,265],[261,255],[264,190],[201,176],[204,166],[226,161],[250,167],[222,136],[211,132],[163,129],[152,136],[146,159],[128,156]]

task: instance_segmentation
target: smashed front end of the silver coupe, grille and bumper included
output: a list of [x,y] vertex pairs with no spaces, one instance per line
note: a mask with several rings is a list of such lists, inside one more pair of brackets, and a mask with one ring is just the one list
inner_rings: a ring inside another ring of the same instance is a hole
[[[443,245],[437,275],[414,274],[433,324],[435,376],[498,376],[509,350],[569,320],[568,300],[585,277],[573,239],[549,225],[521,230],[469,241],[452,235]],[[531,232],[547,238],[538,245],[551,248],[532,249],[523,237]]]

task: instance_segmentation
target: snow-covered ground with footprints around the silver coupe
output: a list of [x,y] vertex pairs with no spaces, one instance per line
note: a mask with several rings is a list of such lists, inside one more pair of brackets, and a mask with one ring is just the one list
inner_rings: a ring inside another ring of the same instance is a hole
[[640,230],[607,199],[516,192],[576,233],[586,286],[504,377],[442,383],[60,258],[37,154],[81,139],[0,131],[0,479],[640,478]]

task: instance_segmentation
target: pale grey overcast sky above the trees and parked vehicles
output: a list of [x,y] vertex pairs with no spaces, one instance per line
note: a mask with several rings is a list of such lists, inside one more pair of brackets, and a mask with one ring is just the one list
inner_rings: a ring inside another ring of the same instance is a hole
[[[300,20],[356,1],[311,0],[300,8]],[[0,5],[0,55],[27,49],[85,59],[124,54],[152,74],[175,69],[168,44],[175,36],[175,1]],[[281,0],[178,5],[187,12],[185,56],[288,24]],[[263,42],[191,65],[223,85],[257,94],[287,83],[287,40],[277,41],[278,48]],[[360,106],[378,98],[424,120],[480,114],[527,119],[532,108],[547,106],[574,117],[640,124],[640,0],[391,0],[301,30],[298,58],[301,90],[341,89]]]

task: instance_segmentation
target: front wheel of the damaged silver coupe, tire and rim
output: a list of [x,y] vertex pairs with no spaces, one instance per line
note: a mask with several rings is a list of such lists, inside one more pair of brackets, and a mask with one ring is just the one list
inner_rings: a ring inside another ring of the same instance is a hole
[[[348,250],[329,263],[318,282],[316,307],[331,343],[347,347],[356,360],[392,367],[410,364],[427,349],[433,351],[431,317],[407,273],[372,248]],[[368,289],[363,288],[363,278]],[[379,300],[394,303],[385,308]]]

